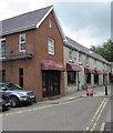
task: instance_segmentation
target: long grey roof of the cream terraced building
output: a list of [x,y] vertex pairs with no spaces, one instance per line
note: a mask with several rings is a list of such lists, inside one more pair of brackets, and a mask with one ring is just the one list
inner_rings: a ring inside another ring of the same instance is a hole
[[101,57],[100,54],[91,51],[90,49],[83,47],[82,44],[78,43],[76,41],[74,41],[74,40],[72,40],[72,39],[70,39],[70,38],[68,38],[68,37],[66,37],[65,45],[72,47],[73,49],[75,49],[75,50],[78,50],[78,51],[80,51],[80,52],[83,52],[83,53],[85,53],[85,54],[89,54],[90,57],[92,57],[92,58],[94,58],[94,59],[97,59],[97,60],[100,60],[100,61],[103,61],[103,62],[110,64],[110,62],[107,62],[107,61],[106,61],[103,57]]

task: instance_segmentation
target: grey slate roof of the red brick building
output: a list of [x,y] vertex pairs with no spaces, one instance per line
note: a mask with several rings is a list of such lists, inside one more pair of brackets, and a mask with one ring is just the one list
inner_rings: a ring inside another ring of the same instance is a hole
[[52,6],[0,21],[2,35],[35,28],[51,8]]

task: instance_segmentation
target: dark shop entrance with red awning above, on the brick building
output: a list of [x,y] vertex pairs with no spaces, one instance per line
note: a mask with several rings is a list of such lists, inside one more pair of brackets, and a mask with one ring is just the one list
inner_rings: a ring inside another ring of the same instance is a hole
[[41,62],[42,70],[42,96],[51,98],[61,94],[62,71],[65,65],[60,62],[44,60]]

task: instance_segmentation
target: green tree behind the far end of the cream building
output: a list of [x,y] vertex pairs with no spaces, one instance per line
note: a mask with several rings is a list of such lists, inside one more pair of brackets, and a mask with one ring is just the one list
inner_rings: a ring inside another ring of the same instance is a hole
[[113,62],[113,41],[112,40],[107,40],[102,45],[97,45],[97,47],[92,45],[90,50],[102,55],[109,62]]

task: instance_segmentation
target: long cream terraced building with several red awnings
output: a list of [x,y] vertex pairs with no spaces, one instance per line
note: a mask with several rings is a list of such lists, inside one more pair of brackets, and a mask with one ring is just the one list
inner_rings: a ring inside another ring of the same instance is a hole
[[68,37],[64,43],[64,62],[65,93],[81,90],[85,84],[93,88],[111,82],[111,63]]

